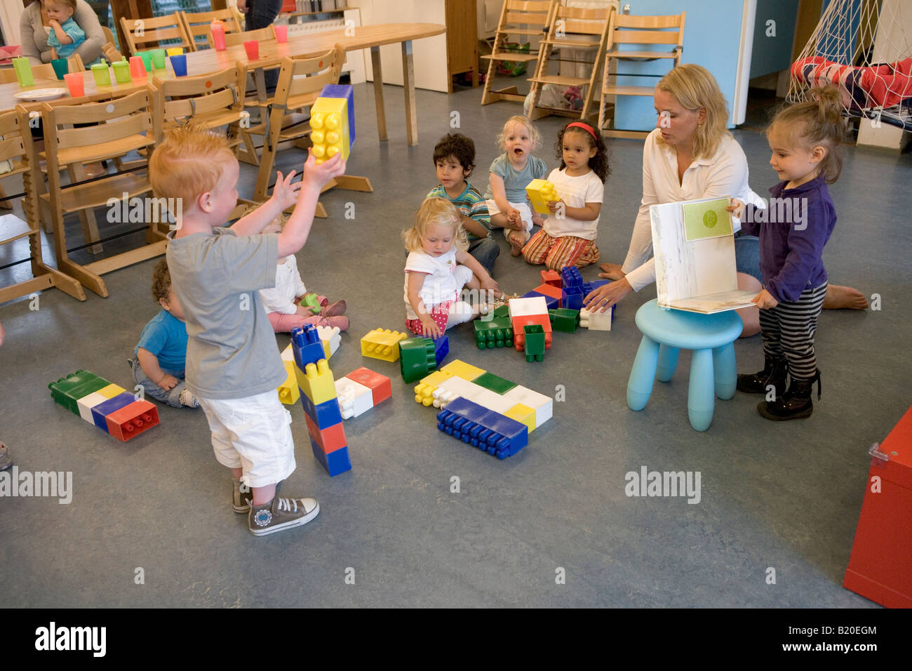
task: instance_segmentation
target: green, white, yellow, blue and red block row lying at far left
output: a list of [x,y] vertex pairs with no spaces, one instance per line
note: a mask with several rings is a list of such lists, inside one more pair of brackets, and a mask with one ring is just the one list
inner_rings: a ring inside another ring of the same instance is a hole
[[90,372],[77,371],[47,386],[58,404],[123,442],[159,423],[155,405]]

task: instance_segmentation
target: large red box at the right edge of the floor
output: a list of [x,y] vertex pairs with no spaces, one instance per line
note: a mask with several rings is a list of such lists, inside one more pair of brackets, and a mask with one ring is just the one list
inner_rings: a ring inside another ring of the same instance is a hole
[[876,452],[843,587],[887,608],[912,608],[912,408]]

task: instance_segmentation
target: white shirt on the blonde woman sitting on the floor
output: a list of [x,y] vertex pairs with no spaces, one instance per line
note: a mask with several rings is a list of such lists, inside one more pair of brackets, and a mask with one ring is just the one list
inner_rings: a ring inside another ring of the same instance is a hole
[[[652,224],[649,205],[677,203],[698,198],[737,198],[742,203],[761,205],[760,196],[747,183],[747,158],[741,145],[726,135],[713,156],[695,159],[678,181],[678,155],[674,147],[657,142],[658,128],[649,133],[643,146],[643,201],[630,236],[630,248],[622,269],[634,291],[656,281],[652,258]],[[732,217],[735,231],[741,221]]]

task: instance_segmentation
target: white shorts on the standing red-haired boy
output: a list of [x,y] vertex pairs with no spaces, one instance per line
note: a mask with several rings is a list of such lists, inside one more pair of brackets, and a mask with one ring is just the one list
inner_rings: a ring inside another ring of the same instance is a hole
[[291,413],[275,390],[246,398],[197,398],[212,431],[215,459],[243,468],[247,487],[275,485],[295,470]]

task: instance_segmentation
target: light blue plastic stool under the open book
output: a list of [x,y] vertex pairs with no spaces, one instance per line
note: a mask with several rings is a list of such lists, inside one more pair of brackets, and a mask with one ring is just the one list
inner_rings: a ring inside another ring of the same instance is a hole
[[728,400],[735,395],[738,372],[733,343],[741,328],[741,318],[734,310],[704,315],[662,309],[656,299],[650,300],[637,310],[637,329],[643,340],[627,382],[627,405],[636,411],[645,408],[655,379],[667,383],[675,374],[680,348],[693,350],[687,410],[694,430],[706,431],[712,423],[715,397]]

